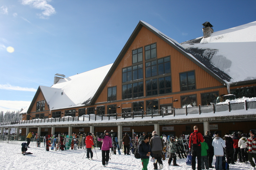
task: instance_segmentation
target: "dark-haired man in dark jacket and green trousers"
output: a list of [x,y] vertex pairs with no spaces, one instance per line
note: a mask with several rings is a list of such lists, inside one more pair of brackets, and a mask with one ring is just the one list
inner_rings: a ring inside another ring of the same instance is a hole
[[154,155],[149,145],[148,135],[145,135],[144,140],[139,142],[138,153],[140,154],[140,159],[143,166],[142,170],[147,170],[149,164],[149,156],[151,155],[151,157],[154,159]]

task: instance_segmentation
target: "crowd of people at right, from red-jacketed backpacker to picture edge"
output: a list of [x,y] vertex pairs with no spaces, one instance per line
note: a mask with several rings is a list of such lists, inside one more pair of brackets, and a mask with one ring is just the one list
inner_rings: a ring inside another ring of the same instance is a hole
[[197,170],[214,168],[212,166],[213,156],[216,157],[216,170],[222,170],[223,166],[236,162],[248,163],[248,161],[252,169],[255,169],[255,131],[250,130],[249,135],[250,137],[247,138],[245,133],[234,132],[232,135],[226,133],[222,138],[221,134],[216,131],[212,137],[210,131],[207,130],[203,136],[198,132],[198,127],[194,126],[194,132],[189,137],[192,169],[196,169],[196,158]]

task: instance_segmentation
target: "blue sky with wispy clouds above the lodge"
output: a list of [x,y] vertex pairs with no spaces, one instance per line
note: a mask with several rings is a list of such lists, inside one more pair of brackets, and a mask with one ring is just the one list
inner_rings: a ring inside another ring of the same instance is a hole
[[205,21],[215,32],[256,21],[256,1],[1,0],[0,111],[28,106],[56,73],[113,63],[139,20],[181,43]]

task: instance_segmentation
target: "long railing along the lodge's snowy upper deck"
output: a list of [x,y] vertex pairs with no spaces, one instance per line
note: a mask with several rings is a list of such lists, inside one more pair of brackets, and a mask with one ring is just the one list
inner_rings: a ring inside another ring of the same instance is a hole
[[235,110],[248,110],[256,109],[256,101],[241,102],[241,103],[228,103],[219,105],[207,105],[207,106],[195,106],[195,107],[184,107],[184,108],[172,108],[162,110],[150,110],[150,111],[132,111],[114,114],[103,114],[103,115],[83,115],[80,117],[62,117],[62,118],[48,118],[48,119],[34,119],[34,120],[23,120],[15,122],[2,122],[0,125],[12,125],[12,124],[39,124],[39,123],[54,123],[54,122],[84,122],[84,121],[109,121],[117,119],[134,119],[134,118],[145,118],[145,117],[164,117],[164,116],[178,116],[188,114],[207,114],[222,111],[235,111]]

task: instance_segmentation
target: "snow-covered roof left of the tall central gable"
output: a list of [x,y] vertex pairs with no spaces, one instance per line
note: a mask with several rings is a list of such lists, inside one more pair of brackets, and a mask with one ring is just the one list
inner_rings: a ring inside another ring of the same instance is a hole
[[60,79],[51,87],[39,88],[50,110],[87,105],[112,64]]

